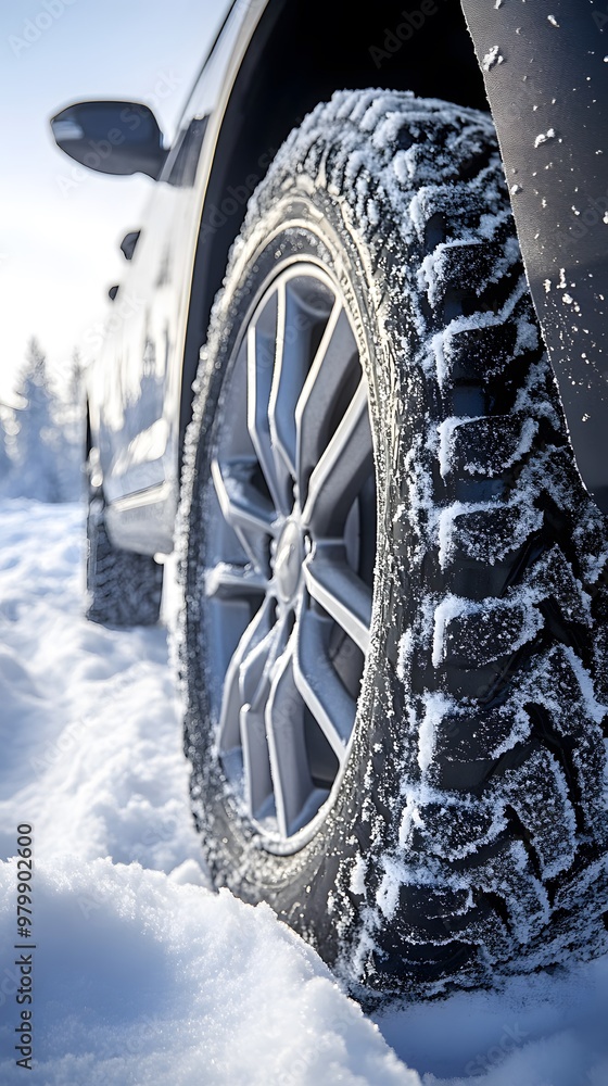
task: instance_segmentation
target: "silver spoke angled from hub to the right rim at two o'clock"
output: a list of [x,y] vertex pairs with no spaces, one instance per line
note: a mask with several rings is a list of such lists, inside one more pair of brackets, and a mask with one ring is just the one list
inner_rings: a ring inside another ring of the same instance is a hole
[[362,378],[346,413],[311,476],[302,519],[315,538],[340,538],[349,510],[372,470],[367,387]]

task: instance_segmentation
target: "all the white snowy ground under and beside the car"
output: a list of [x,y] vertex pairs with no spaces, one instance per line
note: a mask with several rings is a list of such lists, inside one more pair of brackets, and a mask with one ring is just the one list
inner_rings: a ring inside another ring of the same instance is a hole
[[[0,1082],[606,1086],[606,961],[376,1025],[269,909],[207,888],[165,631],[81,618],[81,519],[0,503]],[[29,940],[11,859],[22,823]],[[34,1000],[20,1005],[29,954]],[[29,1076],[15,1063],[24,1009]]]

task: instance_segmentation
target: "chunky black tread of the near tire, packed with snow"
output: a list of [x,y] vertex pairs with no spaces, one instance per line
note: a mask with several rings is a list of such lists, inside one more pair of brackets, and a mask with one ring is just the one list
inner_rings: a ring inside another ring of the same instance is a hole
[[377,449],[382,644],[359,704],[363,768],[337,816],[350,836],[319,869],[325,919],[273,904],[363,998],[599,952],[608,540],[568,443],[491,122],[403,93],[335,94],[279,152],[232,267],[299,189],[339,207],[375,285],[384,365],[370,409],[389,403],[394,425]]

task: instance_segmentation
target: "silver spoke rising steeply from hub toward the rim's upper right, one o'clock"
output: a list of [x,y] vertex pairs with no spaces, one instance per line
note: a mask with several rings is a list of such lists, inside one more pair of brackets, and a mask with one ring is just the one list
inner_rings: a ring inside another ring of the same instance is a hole
[[295,407],[295,478],[304,505],[308,480],[324,450],[328,407],[335,402],[357,357],[357,345],[341,302],[335,302]]

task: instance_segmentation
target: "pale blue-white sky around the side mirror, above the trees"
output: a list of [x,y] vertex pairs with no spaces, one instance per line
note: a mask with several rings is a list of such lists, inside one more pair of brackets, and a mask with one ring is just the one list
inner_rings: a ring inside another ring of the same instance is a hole
[[61,381],[103,321],[153,181],[77,166],[49,118],[72,101],[149,104],[170,138],[213,41],[219,0],[20,0],[0,7],[0,401],[36,336]]

